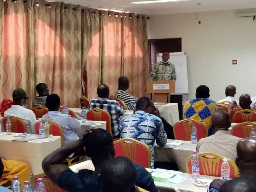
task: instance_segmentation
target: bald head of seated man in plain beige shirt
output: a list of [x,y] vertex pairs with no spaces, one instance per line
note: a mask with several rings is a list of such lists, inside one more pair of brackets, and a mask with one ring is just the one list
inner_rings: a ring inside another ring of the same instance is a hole
[[219,130],[228,131],[230,126],[230,115],[226,111],[219,110],[212,114],[212,129],[214,134]]

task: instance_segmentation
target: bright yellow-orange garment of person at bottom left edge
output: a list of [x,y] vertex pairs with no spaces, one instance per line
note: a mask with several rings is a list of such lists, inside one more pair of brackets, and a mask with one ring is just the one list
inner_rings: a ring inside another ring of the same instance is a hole
[[[24,181],[29,180],[29,172],[29,166],[26,163],[0,158],[0,177],[4,179],[12,181],[13,177],[18,176],[20,184],[23,186]],[[0,192],[2,192],[1,187]]]

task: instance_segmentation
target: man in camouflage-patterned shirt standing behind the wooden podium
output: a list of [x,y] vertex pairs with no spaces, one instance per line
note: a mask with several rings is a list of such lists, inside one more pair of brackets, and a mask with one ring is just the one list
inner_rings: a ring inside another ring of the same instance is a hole
[[149,78],[151,81],[176,81],[176,70],[174,65],[168,61],[169,58],[169,52],[163,52],[163,61],[157,63],[151,71]]

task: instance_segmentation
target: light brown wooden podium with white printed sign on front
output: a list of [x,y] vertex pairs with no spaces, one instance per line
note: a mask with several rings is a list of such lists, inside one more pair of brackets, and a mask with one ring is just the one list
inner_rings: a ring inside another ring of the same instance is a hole
[[154,102],[166,103],[168,93],[175,93],[175,81],[148,81],[147,93],[154,93]]

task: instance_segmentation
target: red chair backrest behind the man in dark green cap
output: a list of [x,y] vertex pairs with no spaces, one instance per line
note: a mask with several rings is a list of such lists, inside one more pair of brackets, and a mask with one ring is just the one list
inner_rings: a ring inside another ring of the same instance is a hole
[[[9,116],[11,119],[11,131],[13,133],[26,133],[26,123],[23,119],[20,119],[15,116]],[[6,131],[6,122],[7,122],[7,116],[3,118],[3,127],[4,131]]]

